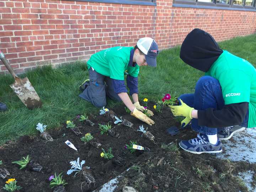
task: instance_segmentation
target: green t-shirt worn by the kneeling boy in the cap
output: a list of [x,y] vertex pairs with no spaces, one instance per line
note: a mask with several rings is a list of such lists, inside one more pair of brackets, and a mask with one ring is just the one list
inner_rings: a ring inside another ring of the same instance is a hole
[[87,62],[88,69],[94,68],[97,73],[111,79],[124,80],[124,73],[138,77],[139,65],[130,66],[130,51],[133,47],[112,47],[91,56]]

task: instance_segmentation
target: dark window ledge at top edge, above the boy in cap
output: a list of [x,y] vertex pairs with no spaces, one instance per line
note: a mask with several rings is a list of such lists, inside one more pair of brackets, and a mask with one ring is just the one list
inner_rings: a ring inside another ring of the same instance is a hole
[[85,2],[102,2],[102,3],[113,3],[113,4],[156,6],[156,0],[68,0],[68,1],[85,1]]

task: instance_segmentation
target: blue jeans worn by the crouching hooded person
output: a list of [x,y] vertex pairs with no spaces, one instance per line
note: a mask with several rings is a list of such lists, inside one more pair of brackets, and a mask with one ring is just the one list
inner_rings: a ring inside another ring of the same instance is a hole
[[[180,96],[180,99],[188,106],[193,107],[196,110],[205,110],[207,108],[215,108],[220,110],[223,108],[224,99],[222,96],[222,88],[217,79],[211,76],[201,77],[196,84],[194,94],[184,94]],[[248,126],[249,109],[245,116],[244,122],[240,125],[242,127]],[[215,135],[218,132],[218,128],[199,126],[198,119],[192,119],[191,127],[193,130],[199,133],[207,135]]]

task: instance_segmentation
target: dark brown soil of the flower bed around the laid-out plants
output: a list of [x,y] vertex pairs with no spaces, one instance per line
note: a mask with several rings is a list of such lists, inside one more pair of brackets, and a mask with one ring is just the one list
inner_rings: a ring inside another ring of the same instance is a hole
[[[149,103],[149,106],[153,106]],[[153,107],[149,107],[154,111]],[[63,172],[63,178],[68,183],[65,190],[68,192],[93,191],[100,187],[111,178],[116,177],[123,171],[132,167],[127,173],[125,179],[121,181],[116,191],[122,191],[124,185],[133,186],[138,191],[247,191],[242,181],[236,175],[239,171],[256,170],[254,164],[248,162],[230,162],[227,160],[217,160],[212,155],[194,155],[178,149],[178,142],[183,139],[191,139],[196,136],[196,132],[191,129],[181,130],[176,136],[170,136],[166,133],[166,129],[171,126],[179,126],[179,123],[172,116],[169,108],[164,108],[162,113],[155,113],[152,119],[155,121],[153,126],[148,126],[142,121],[130,116],[124,106],[117,106],[112,109],[123,119],[133,123],[133,127],[125,127],[123,125],[115,125],[111,122],[112,128],[120,135],[119,138],[112,137],[110,134],[100,134],[98,123],[107,124],[110,119],[106,115],[99,114],[90,115],[89,119],[95,123],[93,127],[86,125],[85,122],[73,119],[76,126],[82,132],[82,135],[75,135],[70,129],[63,124],[62,128],[49,131],[53,137],[52,142],[43,140],[39,133],[35,137],[23,136],[17,142],[7,142],[0,146],[0,160],[3,161],[4,167],[10,172],[10,176],[2,179],[0,177],[0,191],[5,185],[8,178],[15,178],[17,185],[22,186],[21,191],[25,192],[48,192],[53,191],[49,187],[48,178]],[[69,119],[67,119],[69,120]],[[154,135],[154,142],[141,137],[142,133],[138,132],[140,125],[148,127],[148,130]],[[35,126],[36,127],[36,126]],[[81,142],[80,138],[86,133],[91,133],[102,146],[97,149]],[[78,151],[69,148],[64,142],[69,140],[75,145]],[[137,150],[131,154],[125,148],[130,140],[136,140],[138,145],[147,147],[150,151]],[[169,143],[171,143],[168,145]],[[163,146],[162,144],[165,144]],[[112,160],[101,158],[102,148],[107,150],[112,148]],[[28,168],[19,169],[17,164],[12,161],[21,160],[22,157],[30,155],[30,158],[43,166],[41,172],[33,172]],[[114,160],[120,156],[124,159],[125,165],[119,166]],[[84,178],[78,174],[74,177],[74,173],[67,175],[66,172],[71,168],[70,161],[80,157],[85,160],[84,166],[89,166],[91,174],[95,178],[95,185],[84,187]],[[222,175],[222,178],[220,178]],[[224,177],[224,178],[223,178]]]

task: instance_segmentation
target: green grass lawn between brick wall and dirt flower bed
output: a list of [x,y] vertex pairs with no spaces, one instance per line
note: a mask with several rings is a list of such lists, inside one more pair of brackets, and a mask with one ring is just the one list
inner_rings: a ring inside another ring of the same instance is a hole
[[[220,42],[220,47],[256,66],[256,34]],[[162,94],[180,95],[194,91],[196,81],[203,73],[183,63],[179,53],[180,47],[164,50],[157,58],[157,68],[140,68],[140,99],[147,97],[157,101]],[[25,76],[41,97],[43,107],[28,110],[9,86],[14,82],[12,76],[0,76],[0,102],[9,108],[0,113],[0,145],[21,135],[36,133],[38,122],[55,129],[77,114],[98,112],[91,103],[78,97],[79,85],[88,78],[86,63],[76,62],[58,69],[44,66],[20,75],[21,78]],[[109,100],[107,107],[114,105],[118,102]]]

